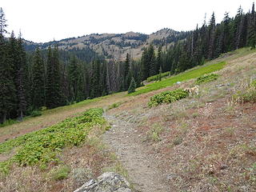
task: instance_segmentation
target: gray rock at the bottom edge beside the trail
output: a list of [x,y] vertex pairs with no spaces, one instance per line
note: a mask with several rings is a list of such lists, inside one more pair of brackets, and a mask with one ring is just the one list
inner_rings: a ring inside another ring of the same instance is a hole
[[104,173],[91,179],[74,192],[131,192],[130,184],[120,174]]

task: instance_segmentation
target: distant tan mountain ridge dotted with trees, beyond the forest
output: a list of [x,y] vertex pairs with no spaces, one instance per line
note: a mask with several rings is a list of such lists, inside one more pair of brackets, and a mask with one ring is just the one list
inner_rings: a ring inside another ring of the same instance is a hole
[[46,49],[58,44],[61,50],[79,51],[86,54],[88,50],[108,59],[124,60],[126,54],[132,58],[140,58],[144,47],[153,43],[154,46],[170,46],[171,43],[187,37],[189,32],[178,32],[170,29],[158,30],[153,34],[134,33],[126,34],[89,34],[78,38],[66,38],[56,42],[34,43],[25,41],[26,50],[35,50],[37,46]]

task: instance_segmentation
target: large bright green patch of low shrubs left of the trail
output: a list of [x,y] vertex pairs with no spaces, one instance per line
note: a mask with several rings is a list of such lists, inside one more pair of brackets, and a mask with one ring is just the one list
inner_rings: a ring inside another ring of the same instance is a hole
[[49,162],[59,162],[58,153],[66,146],[79,146],[89,131],[103,125],[102,109],[90,109],[77,118],[68,118],[54,126],[38,130],[0,144],[0,154],[16,151],[9,160],[0,162],[0,172],[8,173],[8,167],[38,165],[44,168]]

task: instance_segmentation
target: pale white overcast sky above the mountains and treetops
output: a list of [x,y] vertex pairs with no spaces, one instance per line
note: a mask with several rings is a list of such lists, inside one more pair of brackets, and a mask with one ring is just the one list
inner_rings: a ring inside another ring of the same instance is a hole
[[34,42],[49,42],[93,33],[151,34],[168,27],[193,30],[215,13],[233,17],[241,5],[251,10],[254,0],[1,0],[7,30]]

